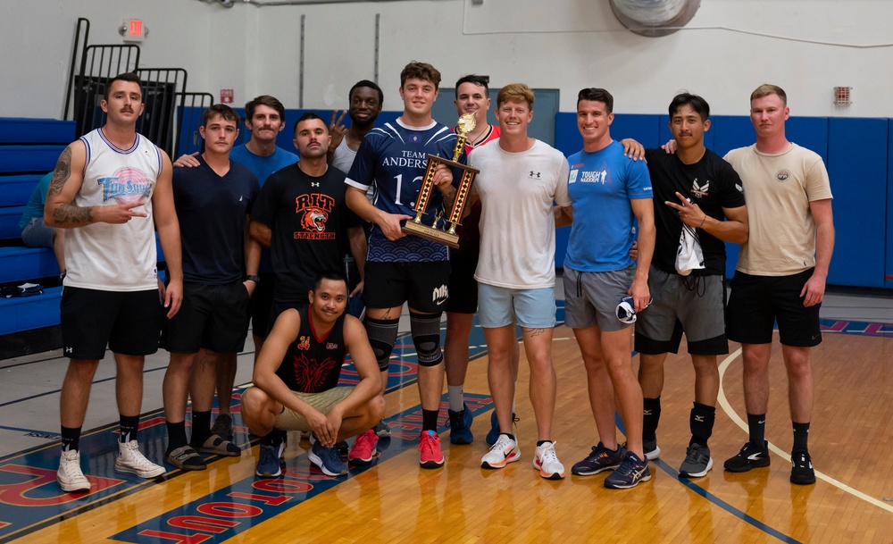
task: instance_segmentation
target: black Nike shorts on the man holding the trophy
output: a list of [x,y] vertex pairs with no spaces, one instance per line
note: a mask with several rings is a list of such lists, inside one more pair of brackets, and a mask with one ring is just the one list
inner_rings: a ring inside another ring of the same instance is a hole
[[421,314],[447,307],[449,261],[379,263],[366,261],[363,302],[367,308],[393,308],[409,302]]

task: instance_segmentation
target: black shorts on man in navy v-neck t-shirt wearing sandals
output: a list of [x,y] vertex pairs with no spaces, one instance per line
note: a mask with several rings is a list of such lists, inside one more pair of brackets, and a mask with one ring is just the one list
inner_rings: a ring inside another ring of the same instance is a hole
[[241,281],[223,285],[183,282],[183,305],[164,324],[162,347],[196,353],[204,347],[238,353],[248,334],[248,291]]

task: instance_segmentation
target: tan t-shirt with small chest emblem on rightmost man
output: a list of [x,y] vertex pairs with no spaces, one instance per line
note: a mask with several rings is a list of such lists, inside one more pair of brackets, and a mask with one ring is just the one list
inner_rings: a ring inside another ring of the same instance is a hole
[[760,276],[788,276],[815,266],[815,222],[809,203],[831,198],[822,157],[791,144],[779,154],[756,145],[725,156],[744,184],[750,235],[736,269]]

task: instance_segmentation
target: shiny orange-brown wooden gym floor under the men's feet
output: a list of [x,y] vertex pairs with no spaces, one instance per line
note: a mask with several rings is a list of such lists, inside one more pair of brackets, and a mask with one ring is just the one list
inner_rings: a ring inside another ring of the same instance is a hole
[[[563,481],[543,480],[530,464],[536,431],[526,390],[519,391],[517,406],[521,462],[499,471],[480,469],[492,407],[484,355],[472,362],[466,381],[470,397],[480,398],[480,414],[472,426],[475,441],[450,446],[444,433],[447,463],[442,469],[419,468],[413,431],[405,433],[405,440],[392,439],[378,464],[332,481],[307,469],[302,456],[308,445],[291,436],[289,469],[281,480],[255,480],[255,446],[241,458],[215,461],[208,471],[174,474],[104,498],[13,541],[99,542],[116,535],[111,541],[889,544],[893,339],[836,333],[824,338],[814,350],[810,445],[819,481],[813,486],[788,480],[786,452],[792,437],[780,350],[772,356],[766,429],[767,439],[778,448],[773,449],[772,465],[750,473],[722,471],[722,461],[747,439],[740,421],[744,404],[735,344],[722,364],[721,406],[711,439],[714,469],[705,478],[676,476],[689,440],[693,398],[693,372],[684,356],[667,362],[658,430],[662,456],[651,464],[652,480],[632,490],[606,490],[604,473],[572,476],[571,465],[588,454],[596,434],[576,342],[570,330],[559,327],[554,438],[567,468]],[[638,364],[636,358],[633,362]],[[522,358],[519,383],[526,385],[525,364]],[[388,415],[408,414],[419,405],[413,384],[388,393],[387,400]],[[233,498],[243,499],[237,501],[241,506],[228,502]]]

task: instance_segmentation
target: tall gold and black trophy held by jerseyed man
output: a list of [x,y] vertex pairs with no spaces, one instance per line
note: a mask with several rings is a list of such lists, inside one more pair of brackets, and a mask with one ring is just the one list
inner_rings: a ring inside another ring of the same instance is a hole
[[[466,166],[462,163],[457,163],[456,161],[459,160],[459,156],[462,155],[463,149],[465,148],[465,141],[468,139],[465,135],[474,130],[475,124],[476,121],[474,120],[474,115],[472,115],[472,113],[463,114],[463,116],[459,118],[459,121],[456,122],[456,128],[458,130],[456,131],[457,138],[455,141],[455,149],[453,150],[452,161],[436,155],[428,155],[428,167],[425,170],[424,177],[421,179],[419,197],[415,201],[415,209],[413,210],[415,212],[415,219],[406,222],[403,227],[405,232],[433,242],[447,244],[449,247],[459,247],[459,235],[456,234],[455,229],[461,224],[459,220],[462,219],[462,210],[465,206],[465,201],[468,200],[468,191],[471,190],[472,181],[474,181],[474,177],[480,173],[480,170],[476,170],[471,166]],[[430,225],[421,222],[422,217],[426,214],[425,208],[428,207],[431,190],[434,188],[434,169],[438,167],[438,164],[446,164],[454,170],[462,171],[462,179],[459,180],[459,187],[455,189],[453,207],[450,209],[449,214],[447,214],[447,230],[438,229],[438,222],[443,216],[443,213],[434,213],[434,221],[431,222]]]

